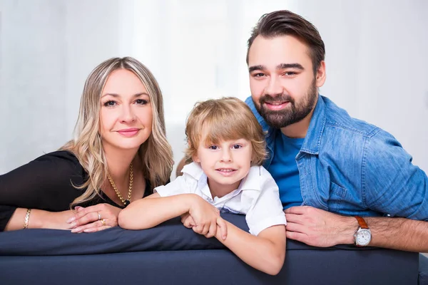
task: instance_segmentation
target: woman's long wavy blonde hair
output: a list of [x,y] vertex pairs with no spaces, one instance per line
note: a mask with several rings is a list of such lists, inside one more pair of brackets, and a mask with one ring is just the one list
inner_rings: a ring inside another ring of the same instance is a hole
[[148,68],[135,58],[110,58],[93,69],[86,79],[74,138],[61,147],[61,150],[68,150],[76,155],[88,175],[83,185],[75,185],[78,189],[86,188],[86,191],[74,199],[71,206],[99,195],[101,185],[107,178],[108,167],[99,135],[101,93],[108,76],[118,69],[131,71],[140,78],[151,101],[152,132],[138,150],[142,160],[143,175],[150,182],[151,189],[164,185],[170,177],[173,152],[165,136],[163,98],[158,82]]

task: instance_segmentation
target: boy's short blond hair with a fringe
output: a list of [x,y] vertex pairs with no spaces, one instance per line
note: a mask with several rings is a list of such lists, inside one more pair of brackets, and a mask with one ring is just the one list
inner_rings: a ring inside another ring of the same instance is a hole
[[[202,138],[203,127],[208,128],[206,138]],[[227,97],[196,103],[188,116],[185,135],[188,140],[188,148],[185,150],[188,162],[197,154],[200,143],[241,138],[251,142],[251,165],[262,165],[267,156],[265,133],[248,105],[238,98]]]

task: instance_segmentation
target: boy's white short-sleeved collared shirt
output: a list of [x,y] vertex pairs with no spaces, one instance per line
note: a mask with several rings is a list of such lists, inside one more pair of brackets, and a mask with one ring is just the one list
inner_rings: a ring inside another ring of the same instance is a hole
[[168,185],[156,187],[154,192],[158,192],[161,197],[193,193],[203,197],[221,212],[245,214],[250,234],[255,236],[268,227],[287,224],[278,187],[263,166],[250,167],[238,189],[221,198],[211,197],[207,176],[198,163],[185,165],[182,172],[183,176]]

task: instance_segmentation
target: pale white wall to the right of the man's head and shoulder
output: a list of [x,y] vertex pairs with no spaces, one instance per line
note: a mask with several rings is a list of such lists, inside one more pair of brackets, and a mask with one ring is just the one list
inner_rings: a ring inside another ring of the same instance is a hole
[[293,1],[327,50],[321,93],[392,133],[428,172],[428,1]]

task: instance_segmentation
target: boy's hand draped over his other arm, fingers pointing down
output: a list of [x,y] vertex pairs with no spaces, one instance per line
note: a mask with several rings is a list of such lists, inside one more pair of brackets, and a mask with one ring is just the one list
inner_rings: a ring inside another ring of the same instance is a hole
[[216,207],[201,197],[195,196],[195,201],[189,209],[189,214],[194,222],[193,232],[203,234],[208,238],[215,236],[217,233],[217,220],[220,217],[220,211]]

